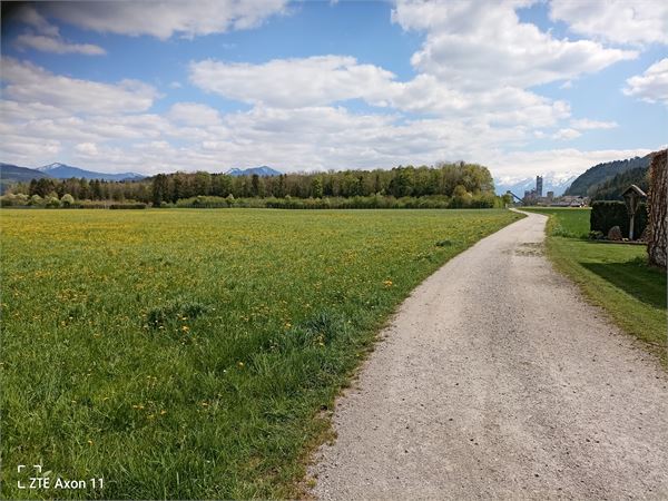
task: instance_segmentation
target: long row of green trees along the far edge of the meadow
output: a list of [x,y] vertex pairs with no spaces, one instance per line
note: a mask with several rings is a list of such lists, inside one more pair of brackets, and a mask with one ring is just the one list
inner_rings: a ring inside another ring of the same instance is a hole
[[[209,202],[226,199],[228,206],[233,205],[229,202],[233,199],[361,200],[371,197],[376,200],[373,204],[377,204],[379,197],[438,198],[439,206],[448,206],[449,200],[452,199],[451,205],[455,207],[489,207],[499,204],[489,169],[463,161],[439,164],[434,167],[399,166],[390,170],[299,173],[271,177],[177,171],[126,181],[42,178],[33,179],[29,184],[18,184],[11,193],[51,199],[71,195],[76,200],[127,200],[153,204],[154,207],[184,206],[184,203],[178,204],[178,202],[189,203],[197,197],[200,197],[200,200],[202,197],[214,197],[208,198]],[[283,203],[272,202],[272,204]],[[283,205],[295,204],[296,202],[292,202]],[[256,206],[257,203],[247,205]],[[318,204],[306,204],[306,206],[313,205]],[[345,205],[348,206],[350,203]]]

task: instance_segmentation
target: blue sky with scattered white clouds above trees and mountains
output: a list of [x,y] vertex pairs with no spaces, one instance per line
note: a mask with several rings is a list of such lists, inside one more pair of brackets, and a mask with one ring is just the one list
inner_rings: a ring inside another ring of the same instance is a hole
[[465,160],[569,177],[668,145],[668,2],[2,2],[0,161],[108,173]]

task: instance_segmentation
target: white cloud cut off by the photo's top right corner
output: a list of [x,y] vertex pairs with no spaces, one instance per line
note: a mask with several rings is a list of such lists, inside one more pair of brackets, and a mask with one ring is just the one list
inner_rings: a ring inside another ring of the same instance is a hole
[[550,18],[564,21],[576,33],[618,43],[668,43],[665,0],[552,0]]

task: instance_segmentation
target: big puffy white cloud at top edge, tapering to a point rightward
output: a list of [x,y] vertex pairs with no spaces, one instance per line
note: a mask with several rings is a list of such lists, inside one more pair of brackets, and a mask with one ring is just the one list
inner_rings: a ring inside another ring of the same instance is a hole
[[515,9],[524,3],[400,0],[392,18],[405,30],[426,33],[411,59],[413,66],[455,88],[527,88],[596,72],[638,56],[590,40],[560,40],[520,22]]

